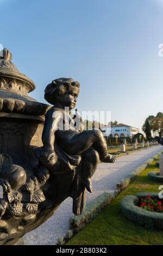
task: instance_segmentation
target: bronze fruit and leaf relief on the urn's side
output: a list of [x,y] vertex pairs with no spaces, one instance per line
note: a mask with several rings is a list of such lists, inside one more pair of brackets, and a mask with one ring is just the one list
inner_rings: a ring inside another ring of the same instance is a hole
[[27,179],[25,170],[12,164],[9,155],[0,154],[0,160],[0,185],[4,190],[0,199],[0,219],[5,214],[15,217],[36,214],[39,204],[46,200],[41,187],[49,178],[48,171],[41,168],[38,177],[32,175]]

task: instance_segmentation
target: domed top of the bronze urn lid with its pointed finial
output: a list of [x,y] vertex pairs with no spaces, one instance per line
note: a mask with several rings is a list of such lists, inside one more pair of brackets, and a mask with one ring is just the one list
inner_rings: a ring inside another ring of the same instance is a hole
[[[4,48],[0,57],[0,76],[15,78],[16,80],[23,81],[23,86],[26,88],[26,93],[32,92],[35,89],[34,82],[26,75],[22,74],[14,63],[11,62],[12,54],[8,49]],[[2,88],[0,88],[2,89]],[[24,90],[23,90],[24,91]]]

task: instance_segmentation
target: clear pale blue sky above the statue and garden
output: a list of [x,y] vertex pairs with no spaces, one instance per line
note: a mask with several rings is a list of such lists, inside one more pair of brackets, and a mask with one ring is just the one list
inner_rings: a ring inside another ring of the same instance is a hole
[[0,43],[44,100],[55,78],[80,82],[79,111],[141,128],[163,111],[163,0],[0,0]]

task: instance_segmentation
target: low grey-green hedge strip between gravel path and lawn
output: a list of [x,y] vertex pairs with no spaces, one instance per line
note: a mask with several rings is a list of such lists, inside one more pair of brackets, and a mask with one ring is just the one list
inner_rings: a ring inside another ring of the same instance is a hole
[[[162,151],[161,151],[162,152]],[[129,184],[139,176],[143,170],[146,169],[148,164],[151,164],[156,158],[161,154],[157,153],[150,159],[148,159],[145,163],[141,164],[140,167],[136,168],[133,172],[131,172],[125,179],[122,179],[120,182],[117,183],[117,189],[114,192],[108,193],[104,192],[99,195],[97,198],[92,200],[89,204],[86,205],[83,214],[80,216],[73,215],[70,218],[70,228],[68,229],[67,233],[59,237],[57,243],[55,245],[64,245],[71,237],[78,233],[78,231],[85,227],[87,223],[89,223],[93,218],[95,218],[107,205],[109,205],[112,200],[123,191]]]

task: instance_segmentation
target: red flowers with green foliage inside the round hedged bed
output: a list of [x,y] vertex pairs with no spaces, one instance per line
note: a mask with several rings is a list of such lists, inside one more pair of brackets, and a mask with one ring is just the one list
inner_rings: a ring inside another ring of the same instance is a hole
[[141,198],[140,205],[137,207],[153,212],[163,212],[163,204],[161,201],[152,199],[150,195],[146,198]]

